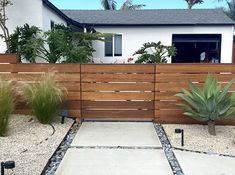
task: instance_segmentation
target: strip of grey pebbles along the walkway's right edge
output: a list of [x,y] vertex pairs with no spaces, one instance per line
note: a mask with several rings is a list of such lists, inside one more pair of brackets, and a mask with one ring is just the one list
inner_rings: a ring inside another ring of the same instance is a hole
[[166,158],[171,166],[174,175],[184,175],[183,170],[181,169],[180,164],[173,152],[174,148],[172,148],[163,127],[159,124],[155,124],[154,127],[162,143],[163,150],[166,154]]

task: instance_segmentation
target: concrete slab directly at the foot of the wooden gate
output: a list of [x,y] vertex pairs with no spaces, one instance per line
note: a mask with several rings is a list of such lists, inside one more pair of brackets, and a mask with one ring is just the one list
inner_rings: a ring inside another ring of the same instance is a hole
[[152,123],[84,122],[71,146],[162,147]]

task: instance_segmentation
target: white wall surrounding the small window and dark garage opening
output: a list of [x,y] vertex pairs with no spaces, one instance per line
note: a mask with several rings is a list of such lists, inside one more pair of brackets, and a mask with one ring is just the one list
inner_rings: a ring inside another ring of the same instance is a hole
[[[103,63],[114,63],[118,59],[127,60],[133,57],[146,42],[161,41],[164,45],[172,45],[173,34],[222,34],[221,63],[232,62],[233,27],[232,26],[195,26],[195,27],[95,27],[99,32],[122,34],[122,57],[105,57],[104,42],[93,43],[96,52],[95,60]],[[168,59],[168,63],[171,59]]]

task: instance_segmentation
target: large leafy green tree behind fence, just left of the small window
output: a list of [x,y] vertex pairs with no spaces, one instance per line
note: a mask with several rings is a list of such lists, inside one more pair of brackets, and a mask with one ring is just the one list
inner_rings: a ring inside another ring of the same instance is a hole
[[41,57],[49,63],[88,63],[95,51],[92,41],[103,41],[105,35],[99,32],[73,32],[70,27],[56,25],[45,33],[45,46]]

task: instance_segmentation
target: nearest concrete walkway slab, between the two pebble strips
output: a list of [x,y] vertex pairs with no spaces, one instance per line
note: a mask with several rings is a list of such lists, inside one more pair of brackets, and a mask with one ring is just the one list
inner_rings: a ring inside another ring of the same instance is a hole
[[163,150],[70,148],[55,175],[173,175]]

